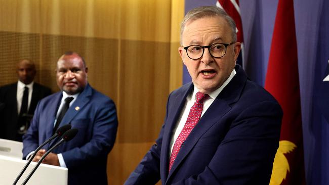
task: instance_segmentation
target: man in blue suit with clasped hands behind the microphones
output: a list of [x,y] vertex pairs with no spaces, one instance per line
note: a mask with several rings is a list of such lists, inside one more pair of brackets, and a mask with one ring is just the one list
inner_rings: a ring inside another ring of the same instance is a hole
[[[87,72],[84,59],[77,53],[67,52],[58,60],[56,78],[62,91],[37,105],[31,126],[23,136],[23,157],[28,158],[53,135],[64,99],[72,97],[59,127],[71,124],[78,133],[50,153],[44,163],[67,167],[68,184],[107,184],[107,155],[117,130],[116,109],[111,99],[88,84]],[[38,161],[50,147],[40,150],[33,161]]]

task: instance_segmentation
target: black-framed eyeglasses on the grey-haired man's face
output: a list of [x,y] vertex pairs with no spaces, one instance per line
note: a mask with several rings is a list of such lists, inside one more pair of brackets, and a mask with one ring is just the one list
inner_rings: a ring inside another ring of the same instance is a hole
[[221,58],[226,54],[226,49],[231,43],[213,43],[211,45],[189,45],[188,47],[184,47],[186,50],[187,56],[192,60],[197,60],[203,56],[204,49],[208,48],[209,53],[214,58]]

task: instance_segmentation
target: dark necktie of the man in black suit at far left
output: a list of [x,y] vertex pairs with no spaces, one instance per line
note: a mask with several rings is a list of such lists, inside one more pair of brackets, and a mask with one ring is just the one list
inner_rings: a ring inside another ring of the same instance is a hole
[[22,105],[21,105],[21,110],[19,111],[19,116],[18,116],[18,133],[20,135],[17,135],[16,140],[17,141],[22,141],[22,135],[26,132],[27,129],[27,120],[26,118],[23,117],[24,114],[27,113],[27,104],[28,104],[28,87],[24,87],[24,93],[23,93],[23,98],[22,98]]

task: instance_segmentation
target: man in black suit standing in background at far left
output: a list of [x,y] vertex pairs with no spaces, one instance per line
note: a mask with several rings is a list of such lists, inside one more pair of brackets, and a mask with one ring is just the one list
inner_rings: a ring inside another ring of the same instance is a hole
[[[31,60],[17,64],[18,82],[0,87],[0,138],[22,142],[39,100],[51,95],[51,89],[34,82],[35,65]],[[24,89],[27,88],[26,109],[22,110]]]

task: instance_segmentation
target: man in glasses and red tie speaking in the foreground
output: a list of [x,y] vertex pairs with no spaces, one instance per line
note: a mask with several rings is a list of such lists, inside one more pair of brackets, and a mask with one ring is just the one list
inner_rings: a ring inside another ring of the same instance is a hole
[[170,94],[156,144],[125,184],[269,184],[282,110],[235,64],[234,21],[218,7],[193,9],[181,45],[192,82]]

